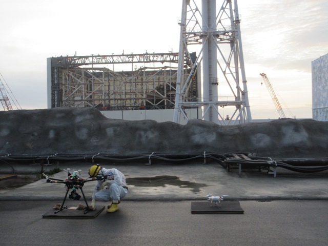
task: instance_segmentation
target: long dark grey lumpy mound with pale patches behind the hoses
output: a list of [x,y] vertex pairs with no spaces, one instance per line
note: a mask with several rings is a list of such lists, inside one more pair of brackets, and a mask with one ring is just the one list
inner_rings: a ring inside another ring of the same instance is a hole
[[154,120],[114,120],[94,108],[0,112],[0,155],[256,153],[326,157],[328,122],[278,119],[219,126]]

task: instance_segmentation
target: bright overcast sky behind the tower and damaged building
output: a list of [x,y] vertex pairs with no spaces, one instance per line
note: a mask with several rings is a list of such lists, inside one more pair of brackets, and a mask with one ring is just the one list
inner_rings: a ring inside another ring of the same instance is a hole
[[[2,1],[0,78],[23,109],[47,108],[47,57],[178,52],[181,5]],[[311,61],[328,53],[328,1],[239,0],[238,7],[252,118],[279,117],[259,73],[268,75],[287,117],[312,118]]]

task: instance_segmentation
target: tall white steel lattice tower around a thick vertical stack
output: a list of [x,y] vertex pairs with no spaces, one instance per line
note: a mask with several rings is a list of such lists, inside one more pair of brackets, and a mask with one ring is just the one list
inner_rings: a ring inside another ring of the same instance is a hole
[[[216,2],[223,3],[217,8]],[[202,108],[202,119],[216,124],[252,121],[240,21],[237,0],[182,0],[174,122],[181,115],[188,118],[184,109],[189,107]],[[196,56],[191,47],[197,49]],[[189,73],[183,69],[186,59],[191,61]],[[188,90],[200,68],[202,96],[191,100]],[[222,115],[218,107],[232,109],[231,116]]]

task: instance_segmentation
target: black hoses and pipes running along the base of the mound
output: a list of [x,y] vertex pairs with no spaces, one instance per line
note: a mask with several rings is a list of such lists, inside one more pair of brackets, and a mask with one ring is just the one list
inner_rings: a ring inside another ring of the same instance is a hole
[[[236,158],[236,156],[238,158]],[[6,155],[0,156],[0,160],[7,163],[17,161],[115,161],[115,162],[131,162],[131,161],[151,161],[159,160],[173,163],[187,163],[196,160],[214,160],[223,168],[227,168],[229,164],[241,164],[243,168],[269,168],[280,167],[295,172],[314,173],[328,170],[328,159],[313,159],[313,158],[295,158],[295,159],[273,159],[270,157],[254,156],[250,153],[197,153],[197,154],[141,154],[141,155],[110,155],[106,153],[97,154],[51,154],[51,155]],[[11,167],[12,168],[12,167]]]

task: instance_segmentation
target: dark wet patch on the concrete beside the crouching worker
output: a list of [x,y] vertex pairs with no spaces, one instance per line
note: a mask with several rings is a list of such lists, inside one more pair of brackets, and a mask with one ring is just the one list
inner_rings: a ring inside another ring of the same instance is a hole
[[165,187],[166,185],[178,186],[180,188],[191,189],[192,192],[198,193],[203,187],[207,187],[205,183],[195,183],[190,181],[180,180],[177,176],[155,176],[155,177],[138,177],[127,178],[127,185],[136,187]]

